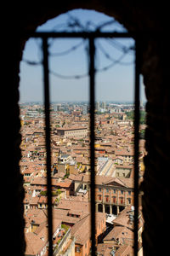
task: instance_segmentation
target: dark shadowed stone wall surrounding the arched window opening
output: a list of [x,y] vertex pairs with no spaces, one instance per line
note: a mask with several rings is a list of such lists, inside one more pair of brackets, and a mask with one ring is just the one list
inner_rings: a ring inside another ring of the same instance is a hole
[[[34,1],[35,2],[35,1]],[[143,208],[144,208],[144,255],[158,255],[162,245],[160,234],[168,221],[167,208],[170,199],[169,189],[169,164],[170,164],[170,118],[169,98],[170,89],[168,84],[168,44],[164,32],[168,30],[168,6],[151,1],[48,1],[39,2],[38,5],[30,2],[17,3],[10,11],[6,9],[10,21],[10,38],[6,46],[10,62],[8,63],[8,88],[12,92],[14,105],[10,104],[10,115],[14,129],[13,140],[9,145],[14,148],[13,166],[8,165],[8,172],[4,173],[7,186],[13,191],[11,204],[7,203],[4,213],[10,213],[7,226],[11,230],[10,239],[13,255],[24,255],[24,220],[23,206],[24,189],[22,176],[20,175],[20,110],[19,82],[20,60],[22,50],[26,43],[26,30],[35,31],[36,27],[46,20],[53,18],[69,9],[83,8],[95,9],[111,15],[122,23],[129,32],[140,32],[141,73],[144,76],[144,86],[147,97],[147,129],[145,157],[146,171],[144,173]],[[7,26],[8,29],[8,26]],[[158,33],[159,35],[156,35]],[[9,80],[8,80],[9,81]],[[9,93],[8,90],[6,92]],[[7,132],[7,131],[6,131]],[[8,135],[8,133],[7,133]],[[166,177],[166,178],[165,178]],[[8,199],[7,199],[8,200]],[[6,237],[6,236],[5,236]],[[167,242],[167,240],[165,239]],[[164,247],[168,247],[164,243]],[[8,253],[6,253],[8,254]]]

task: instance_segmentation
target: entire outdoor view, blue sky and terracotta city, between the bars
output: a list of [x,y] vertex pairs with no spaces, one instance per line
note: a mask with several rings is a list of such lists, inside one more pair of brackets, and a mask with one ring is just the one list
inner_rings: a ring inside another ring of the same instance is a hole
[[[126,32],[113,18],[82,9],[48,20],[37,32],[60,29]],[[54,256],[93,253],[88,47],[82,38],[48,38]],[[134,62],[133,38],[95,38],[95,247],[100,256],[129,256],[134,251]],[[42,78],[42,42],[30,38],[20,62],[26,256],[48,256],[50,247]],[[140,99],[139,183],[146,154],[144,86]],[[139,191],[139,256],[144,227],[141,195]]]

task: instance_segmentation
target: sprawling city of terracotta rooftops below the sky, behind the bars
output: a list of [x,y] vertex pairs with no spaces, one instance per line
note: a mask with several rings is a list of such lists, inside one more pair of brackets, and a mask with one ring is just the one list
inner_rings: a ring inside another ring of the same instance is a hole
[[[133,255],[133,102],[95,104],[97,255]],[[50,106],[54,255],[91,255],[88,102]],[[20,102],[26,255],[48,255],[44,106]],[[140,102],[139,183],[144,175],[144,103]],[[139,193],[139,255],[143,255]]]

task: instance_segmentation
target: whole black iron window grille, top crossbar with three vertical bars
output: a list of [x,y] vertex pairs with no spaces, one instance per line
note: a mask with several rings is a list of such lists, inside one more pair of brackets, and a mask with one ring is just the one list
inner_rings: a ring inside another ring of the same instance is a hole
[[49,76],[48,76],[48,38],[88,38],[89,41],[89,85],[90,85],[90,130],[91,130],[91,254],[96,255],[95,237],[95,172],[94,172],[94,108],[95,108],[95,38],[135,38],[135,84],[134,84],[134,255],[138,255],[138,216],[139,216],[139,49],[135,33],[129,32],[35,32],[31,38],[42,38],[43,51],[43,86],[45,104],[45,130],[47,151],[47,186],[48,186],[48,256],[53,255],[53,211],[51,194],[51,149],[49,116]]

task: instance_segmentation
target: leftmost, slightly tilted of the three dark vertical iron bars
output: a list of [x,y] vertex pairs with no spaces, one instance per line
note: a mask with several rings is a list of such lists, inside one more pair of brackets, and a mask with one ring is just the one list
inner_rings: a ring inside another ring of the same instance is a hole
[[48,38],[42,38],[43,51],[43,87],[45,104],[45,131],[46,131],[46,164],[48,186],[48,256],[53,256],[53,218],[52,218],[52,194],[51,194],[51,146],[50,146],[50,113],[49,113],[49,77],[48,77]]

